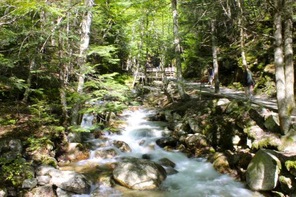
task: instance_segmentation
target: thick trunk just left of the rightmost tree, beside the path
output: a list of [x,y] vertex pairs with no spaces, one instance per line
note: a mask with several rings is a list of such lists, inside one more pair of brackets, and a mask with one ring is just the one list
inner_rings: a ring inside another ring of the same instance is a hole
[[290,125],[290,115],[287,108],[284,54],[282,48],[282,27],[281,27],[281,0],[275,1],[274,5],[274,64],[276,69],[276,98],[279,110],[279,123],[281,134],[286,135]]

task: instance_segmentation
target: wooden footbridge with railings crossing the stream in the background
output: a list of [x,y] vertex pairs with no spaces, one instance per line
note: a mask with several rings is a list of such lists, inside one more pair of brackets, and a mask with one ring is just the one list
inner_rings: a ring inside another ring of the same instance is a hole
[[[165,73],[167,79],[176,78],[175,71],[176,71],[175,68],[147,68],[146,75],[147,75],[148,79],[155,80],[155,81],[161,81],[163,78],[162,77],[163,73]],[[137,78],[144,79],[144,69],[139,70]]]

